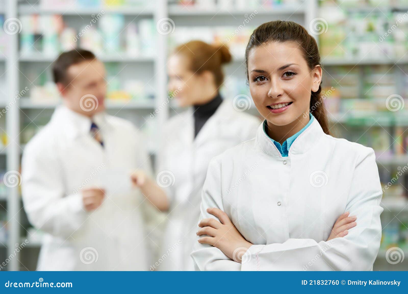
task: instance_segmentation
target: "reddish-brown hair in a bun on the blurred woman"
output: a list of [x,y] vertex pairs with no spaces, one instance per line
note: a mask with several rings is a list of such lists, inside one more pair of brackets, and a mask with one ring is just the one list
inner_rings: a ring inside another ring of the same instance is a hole
[[222,64],[231,61],[231,53],[224,44],[210,45],[202,41],[190,41],[175,48],[173,54],[182,54],[189,60],[189,68],[195,73],[205,70],[214,75],[215,85],[219,88],[224,82]]

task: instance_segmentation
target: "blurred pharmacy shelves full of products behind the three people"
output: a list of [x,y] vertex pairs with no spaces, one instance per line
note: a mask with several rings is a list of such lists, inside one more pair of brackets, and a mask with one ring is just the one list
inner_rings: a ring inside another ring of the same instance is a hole
[[22,209],[16,171],[24,145],[60,103],[50,67],[60,52],[85,48],[104,61],[108,112],[140,127],[155,164],[153,131],[180,111],[166,103],[171,49],[191,39],[226,44],[233,62],[222,95],[247,99],[246,111],[257,115],[244,51],[253,29],[276,19],[298,22],[317,39],[330,131],[376,152],[384,212],[374,270],[408,270],[408,0],[1,1],[2,270],[36,268],[41,231]]

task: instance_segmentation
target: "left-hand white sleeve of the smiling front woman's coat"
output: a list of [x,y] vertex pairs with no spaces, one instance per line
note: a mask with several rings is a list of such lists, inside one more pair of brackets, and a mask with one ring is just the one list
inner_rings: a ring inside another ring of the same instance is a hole
[[[208,165],[207,177],[202,190],[200,220],[204,218],[217,217],[207,212],[207,208],[216,207],[224,211],[221,198],[221,166],[217,162],[217,157],[213,158]],[[206,235],[203,235],[204,237]],[[197,240],[200,237],[197,238]],[[195,243],[191,257],[194,261],[195,270],[241,270],[241,264],[229,259],[220,249],[208,244]]]

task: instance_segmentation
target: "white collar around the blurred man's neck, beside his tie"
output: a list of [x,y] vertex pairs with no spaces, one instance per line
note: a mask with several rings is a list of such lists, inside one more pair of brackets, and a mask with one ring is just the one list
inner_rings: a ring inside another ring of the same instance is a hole
[[[92,120],[101,129],[101,132],[110,128],[105,112],[98,112],[92,117]],[[65,105],[55,108],[51,121],[60,124],[70,138],[77,138],[91,131],[91,118],[70,110]]]

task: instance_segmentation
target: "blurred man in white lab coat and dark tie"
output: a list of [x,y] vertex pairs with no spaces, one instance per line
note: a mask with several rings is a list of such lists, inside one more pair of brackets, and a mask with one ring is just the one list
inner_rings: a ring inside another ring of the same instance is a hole
[[22,159],[24,208],[45,232],[38,270],[148,270],[140,191],[159,209],[168,204],[146,177],[140,134],[104,112],[105,68],[93,53],[62,53],[53,79],[63,105]]

